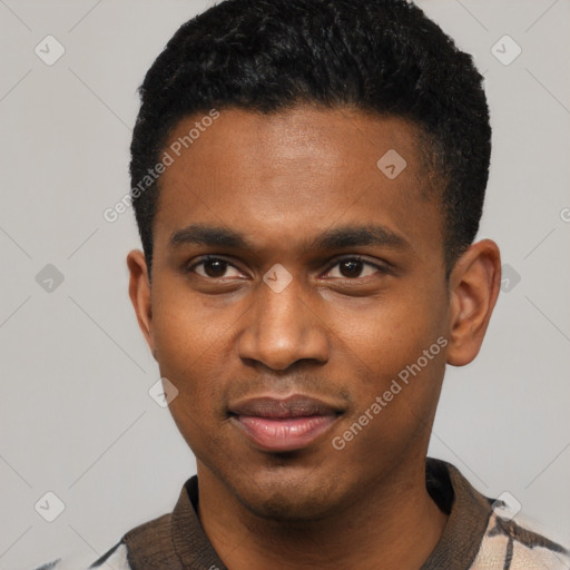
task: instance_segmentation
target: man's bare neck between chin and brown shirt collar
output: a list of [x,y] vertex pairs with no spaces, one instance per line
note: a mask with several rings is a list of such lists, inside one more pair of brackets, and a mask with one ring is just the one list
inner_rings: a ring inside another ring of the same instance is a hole
[[420,463],[360,490],[332,515],[303,521],[257,517],[198,463],[198,514],[230,570],[417,570],[448,519],[429,495]]

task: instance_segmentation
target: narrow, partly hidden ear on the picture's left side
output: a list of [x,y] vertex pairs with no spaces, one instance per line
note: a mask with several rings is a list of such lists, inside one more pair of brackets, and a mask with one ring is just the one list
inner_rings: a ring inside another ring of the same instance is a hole
[[127,255],[127,266],[129,268],[129,297],[135,313],[137,315],[138,326],[142,335],[155,354],[155,343],[153,340],[153,304],[150,296],[150,279],[148,278],[148,267],[145,255],[139,249],[134,249]]

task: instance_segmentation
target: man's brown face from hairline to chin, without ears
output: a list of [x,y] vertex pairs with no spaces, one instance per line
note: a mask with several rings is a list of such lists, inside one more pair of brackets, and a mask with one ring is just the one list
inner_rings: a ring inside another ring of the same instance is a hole
[[396,118],[234,109],[170,151],[149,342],[199,475],[261,515],[325,515],[425,455],[449,295],[417,140]]

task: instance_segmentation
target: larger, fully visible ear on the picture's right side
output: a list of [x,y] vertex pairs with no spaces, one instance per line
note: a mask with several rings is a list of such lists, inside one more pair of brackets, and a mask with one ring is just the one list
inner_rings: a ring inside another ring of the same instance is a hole
[[473,244],[450,275],[448,363],[469,364],[479,353],[501,285],[501,254],[491,239]]

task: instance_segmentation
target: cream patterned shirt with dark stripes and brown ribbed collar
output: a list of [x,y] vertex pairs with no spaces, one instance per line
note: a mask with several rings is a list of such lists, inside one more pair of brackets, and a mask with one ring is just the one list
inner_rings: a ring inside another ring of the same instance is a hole
[[[428,458],[426,485],[449,519],[420,570],[570,569],[567,549],[511,520],[450,463]],[[227,570],[204,533],[197,504],[194,475],[171,513],[130,530],[98,560],[58,559],[37,570]]]

